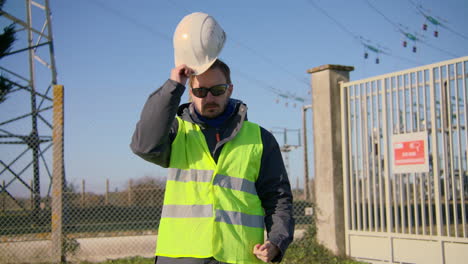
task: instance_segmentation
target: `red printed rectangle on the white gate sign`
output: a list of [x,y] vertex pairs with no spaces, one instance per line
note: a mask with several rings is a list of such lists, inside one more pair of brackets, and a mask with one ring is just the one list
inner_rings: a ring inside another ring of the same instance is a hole
[[420,165],[426,162],[424,140],[393,143],[395,165]]

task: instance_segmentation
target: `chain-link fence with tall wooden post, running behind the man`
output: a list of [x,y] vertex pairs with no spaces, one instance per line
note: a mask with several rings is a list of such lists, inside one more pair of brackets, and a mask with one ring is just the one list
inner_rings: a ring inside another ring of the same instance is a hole
[[[52,88],[53,99],[47,97],[46,109],[53,111],[35,117],[41,122],[37,134],[24,135],[34,131],[26,122],[10,126],[15,117],[0,122],[0,263],[51,263],[63,260],[61,256],[75,262],[151,258],[161,217],[164,180],[132,179],[120,191],[110,191],[111,182],[103,179],[97,193],[87,191],[84,180],[80,185],[67,184],[63,164],[63,86]],[[16,94],[10,96],[16,102],[20,99]],[[51,103],[53,106],[49,106]],[[0,109],[7,106],[0,105]],[[30,121],[31,115],[27,117]],[[296,176],[291,178],[297,179]],[[298,182],[293,189],[299,230],[305,230],[312,220],[308,215],[311,203],[306,201],[303,189]]]

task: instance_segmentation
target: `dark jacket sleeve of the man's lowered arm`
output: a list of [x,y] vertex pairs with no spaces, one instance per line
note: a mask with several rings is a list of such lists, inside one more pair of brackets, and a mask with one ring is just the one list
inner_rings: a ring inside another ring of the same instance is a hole
[[279,262],[294,236],[293,196],[278,142],[261,130],[263,154],[256,188],[265,210],[268,240],[281,251],[273,262]]

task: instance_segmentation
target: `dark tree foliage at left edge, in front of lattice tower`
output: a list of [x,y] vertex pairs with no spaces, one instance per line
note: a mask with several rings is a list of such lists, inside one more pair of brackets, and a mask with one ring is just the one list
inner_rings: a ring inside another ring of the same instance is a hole
[[[3,15],[3,5],[6,0],[0,0],[0,16]],[[0,34],[0,59],[7,56],[16,40],[15,36],[15,24],[12,23],[9,26],[3,28],[3,33]],[[3,103],[8,93],[11,91],[13,83],[3,73],[0,75],[0,103]]]

